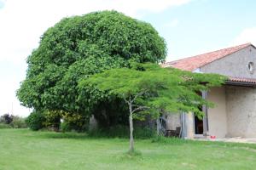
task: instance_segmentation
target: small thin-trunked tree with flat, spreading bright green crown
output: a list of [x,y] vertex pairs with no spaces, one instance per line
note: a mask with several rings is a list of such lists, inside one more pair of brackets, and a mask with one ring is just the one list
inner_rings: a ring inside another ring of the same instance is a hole
[[131,69],[104,71],[79,82],[80,94],[88,87],[96,87],[125,100],[129,107],[130,152],[134,151],[133,118],[143,115],[159,116],[159,111],[193,111],[202,115],[199,105],[211,103],[197,94],[212,86],[219,86],[224,77],[193,74],[154,64],[135,64]]

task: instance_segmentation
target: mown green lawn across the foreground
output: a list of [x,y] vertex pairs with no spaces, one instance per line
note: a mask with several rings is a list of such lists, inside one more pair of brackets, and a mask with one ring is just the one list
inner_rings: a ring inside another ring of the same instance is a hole
[[255,169],[256,144],[89,138],[83,133],[0,129],[0,169]]

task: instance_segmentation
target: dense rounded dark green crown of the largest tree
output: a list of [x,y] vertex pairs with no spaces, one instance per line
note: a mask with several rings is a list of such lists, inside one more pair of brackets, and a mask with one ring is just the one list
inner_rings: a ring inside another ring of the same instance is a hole
[[91,88],[81,102],[79,79],[129,67],[131,60],[159,63],[165,58],[164,39],[146,22],[116,11],[65,18],[44,32],[39,47],[28,56],[26,80],[17,96],[21,105],[38,111],[112,112],[116,108],[109,104],[122,101],[103,94],[96,99],[90,95],[95,90]]

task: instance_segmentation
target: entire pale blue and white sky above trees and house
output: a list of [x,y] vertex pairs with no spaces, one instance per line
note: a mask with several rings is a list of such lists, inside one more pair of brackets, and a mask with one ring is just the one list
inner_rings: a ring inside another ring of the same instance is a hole
[[27,116],[15,90],[39,37],[63,17],[115,9],[152,24],[166,39],[166,60],[245,42],[256,44],[256,1],[231,0],[0,0],[0,115]]

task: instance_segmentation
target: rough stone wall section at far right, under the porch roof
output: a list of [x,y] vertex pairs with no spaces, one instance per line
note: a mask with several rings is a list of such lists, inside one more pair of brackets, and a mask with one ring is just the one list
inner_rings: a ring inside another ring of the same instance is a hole
[[226,87],[229,137],[256,137],[256,89]]

